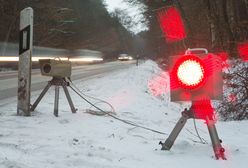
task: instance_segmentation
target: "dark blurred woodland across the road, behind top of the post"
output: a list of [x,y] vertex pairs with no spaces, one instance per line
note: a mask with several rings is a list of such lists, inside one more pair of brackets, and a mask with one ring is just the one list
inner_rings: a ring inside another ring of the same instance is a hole
[[[106,56],[131,47],[132,35],[102,0],[0,0],[0,41],[18,42],[20,11],[34,9],[34,45],[93,49]],[[124,40],[123,40],[124,39]],[[122,42],[120,42],[122,41]]]

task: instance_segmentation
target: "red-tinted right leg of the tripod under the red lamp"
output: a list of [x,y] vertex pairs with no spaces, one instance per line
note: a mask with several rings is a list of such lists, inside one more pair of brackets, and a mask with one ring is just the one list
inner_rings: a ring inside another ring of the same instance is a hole
[[226,160],[226,157],[224,154],[225,149],[221,146],[220,139],[219,139],[214,121],[209,120],[208,118],[206,121],[207,121],[208,131],[209,131],[209,135],[212,141],[216,159],[222,158],[223,160]]

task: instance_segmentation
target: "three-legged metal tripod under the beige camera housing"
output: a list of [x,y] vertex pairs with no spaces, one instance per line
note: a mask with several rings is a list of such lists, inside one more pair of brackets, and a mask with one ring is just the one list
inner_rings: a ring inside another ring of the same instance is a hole
[[53,77],[51,81],[48,81],[48,84],[44,88],[44,90],[41,92],[37,100],[34,102],[34,104],[31,106],[31,111],[34,111],[43,96],[46,94],[46,92],[49,90],[49,88],[54,85],[55,86],[55,101],[54,101],[54,115],[58,117],[58,107],[59,107],[59,87],[62,86],[66,95],[66,98],[69,102],[70,108],[72,113],[76,113],[77,109],[75,109],[73,102],[71,100],[71,96],[68,92],[67,87],[70,85],[69,82],[66,81],[65,78],[58,78],[58,77]]

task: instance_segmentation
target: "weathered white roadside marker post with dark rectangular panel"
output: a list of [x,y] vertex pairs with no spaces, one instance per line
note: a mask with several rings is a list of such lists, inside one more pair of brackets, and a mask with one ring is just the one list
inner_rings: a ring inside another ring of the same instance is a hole
[[30,86],[33,48],[33,9],[20,13],[17,115],[30,116]]

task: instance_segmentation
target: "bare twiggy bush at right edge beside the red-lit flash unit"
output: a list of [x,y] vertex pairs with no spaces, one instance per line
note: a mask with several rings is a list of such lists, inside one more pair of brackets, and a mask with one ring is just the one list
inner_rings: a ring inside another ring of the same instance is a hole
[[218,105],[221,119],[248,119],[248,63],[241,60],[231,61],[224,73],[224,99]]

